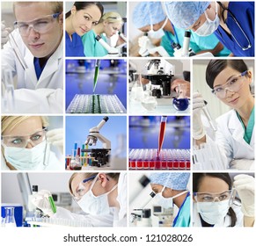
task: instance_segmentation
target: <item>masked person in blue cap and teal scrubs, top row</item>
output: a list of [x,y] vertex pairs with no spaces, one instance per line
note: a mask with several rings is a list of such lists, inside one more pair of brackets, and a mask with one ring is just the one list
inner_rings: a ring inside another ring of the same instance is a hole
[[[161,39],[160,45],[165,48],[170,56],[174,56],[172,45],[182,46],[185,30],[172,25],[170,19],[166,17],[160,2],[141,2],[135,6],[133,11],[133,23],[136,28],[148,36],[139,39],[139,47],[146,49],[150,46],[150,39]],[[215,35],[199,37],[191,32],[190,47],[195,54],[210,52],[213,55],[227,56],[230,51],[223,47]]]

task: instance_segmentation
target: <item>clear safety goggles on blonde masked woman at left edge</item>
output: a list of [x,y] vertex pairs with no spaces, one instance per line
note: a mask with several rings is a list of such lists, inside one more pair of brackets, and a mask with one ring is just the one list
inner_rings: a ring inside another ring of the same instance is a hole
[[30,143],[33,147],[40,144],[42,141],[46,140],[47,128],[36,131],[33,134],[27,135],[2,135],[1,141],[2,145],[7,147],[15,148],[26,148],[27,144]]

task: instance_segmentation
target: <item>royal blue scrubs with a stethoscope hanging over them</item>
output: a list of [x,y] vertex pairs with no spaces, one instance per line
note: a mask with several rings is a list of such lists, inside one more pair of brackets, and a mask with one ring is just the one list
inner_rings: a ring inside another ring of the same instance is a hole
[[[223,43],[225,47],[230,49],[235,56],[254,56],[254,3],[253,2],[229,2],[228,16],[226,19],[226,25],[230,29],[230,33],[235,39],[219,25],[215,34],[216,37]],[[233,16],[230,14],[233,14]],[[236,24],[234,18],[238,21]],[[248,47],[248,40],[252,47],[247,50],[243,50],[242,47]],[[241,47],[239,47],[239,45]]]

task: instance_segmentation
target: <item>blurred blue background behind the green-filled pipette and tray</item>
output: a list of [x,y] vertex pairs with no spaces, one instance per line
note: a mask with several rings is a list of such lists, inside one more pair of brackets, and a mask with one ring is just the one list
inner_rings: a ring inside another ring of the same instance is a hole
[[[76,94],[93,94],[95,60],[83,62],[84,72],[79,73],[78,60],[66,60],[66,109]],[[127,108],[127,62],[118,60],[115,67],[111,67],[110,63],[111,60],[101,60],[94,93],[116,94],[122,105]]]

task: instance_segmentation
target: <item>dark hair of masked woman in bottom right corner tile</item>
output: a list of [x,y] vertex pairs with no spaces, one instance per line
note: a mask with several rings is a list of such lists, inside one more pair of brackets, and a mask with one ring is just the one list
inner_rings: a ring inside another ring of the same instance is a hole
[[[210,173],[193,173],[193,192],[198,192],[199,187],[201,185],[201,180],[204,177],[217,177],[222,179],[225,183],[227,183],[229,185],[229,190],[232,189],[232,179],[230,177],[230,175],[228,173],[214,173],[214,172],[210,172]],[[237,214],[235,213],[235,211],[233,210],[232,207],[229,208],[229,212],[228,214],[231,217],[231,224],[230,227],[234,227],[238,221],[237,219]]]

